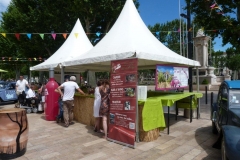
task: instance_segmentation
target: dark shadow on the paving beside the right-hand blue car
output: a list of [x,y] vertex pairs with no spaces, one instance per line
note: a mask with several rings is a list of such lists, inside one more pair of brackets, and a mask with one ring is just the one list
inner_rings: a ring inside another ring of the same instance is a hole
[[199,146],[206,152],[207,156],[203,160],[219,160],[221,159],[221,150],[212,148],[216,142],[218,135],[212,133],[212,127],[201,127],[195,132],[195,139]]

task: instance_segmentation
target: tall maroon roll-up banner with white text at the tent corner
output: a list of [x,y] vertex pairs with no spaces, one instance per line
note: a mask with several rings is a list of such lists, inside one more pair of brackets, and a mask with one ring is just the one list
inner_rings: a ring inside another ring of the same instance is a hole
[[109,140],[134,147],[138,59],[111,62]]

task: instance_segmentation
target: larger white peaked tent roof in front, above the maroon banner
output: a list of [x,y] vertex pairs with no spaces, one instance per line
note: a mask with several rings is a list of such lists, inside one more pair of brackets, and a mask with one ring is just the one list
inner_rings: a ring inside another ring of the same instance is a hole
[[132,0],[127,0],[117,21],[107,35],[90,51],[64,66],[110,70],[112,60],[138,58],[138,67],[155,68],[156,64],[200,66],[163,45],[142,21]]

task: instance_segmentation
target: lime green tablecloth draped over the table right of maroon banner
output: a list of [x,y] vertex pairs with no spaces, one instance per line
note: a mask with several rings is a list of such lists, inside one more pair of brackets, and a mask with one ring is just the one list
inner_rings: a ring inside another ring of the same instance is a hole
[[[143,105],[142,119],[143,130],[149,131],[155,128],[166,127],[165,118],[163,113],[163,106],[173,106],[176,101],[179,101],[179,108],[188,108],[188,105],[184,105],[187,97],[193,96],[192,108],[197,107],[197,98],[202,97],[202,93],[197,92],[184,92],[176,94],[162,94],[156,97],[148,97],[146,101],[138,101],[139,105]],[[183,100],[183,102],[181,102]],[[181,104],[183,103],[183,104]],[[185,107],[187,106],[187,107]]]

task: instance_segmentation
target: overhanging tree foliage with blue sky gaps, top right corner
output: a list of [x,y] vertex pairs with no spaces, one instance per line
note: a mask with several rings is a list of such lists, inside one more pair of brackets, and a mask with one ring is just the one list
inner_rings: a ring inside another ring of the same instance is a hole
[[[223,45],[230,43],[240,49],[240,1],[239,0],[186,0],[194,14],[194,24],[204,27],[207,35],[222,36]],[[215,4],[215,7],[210,7]]]

